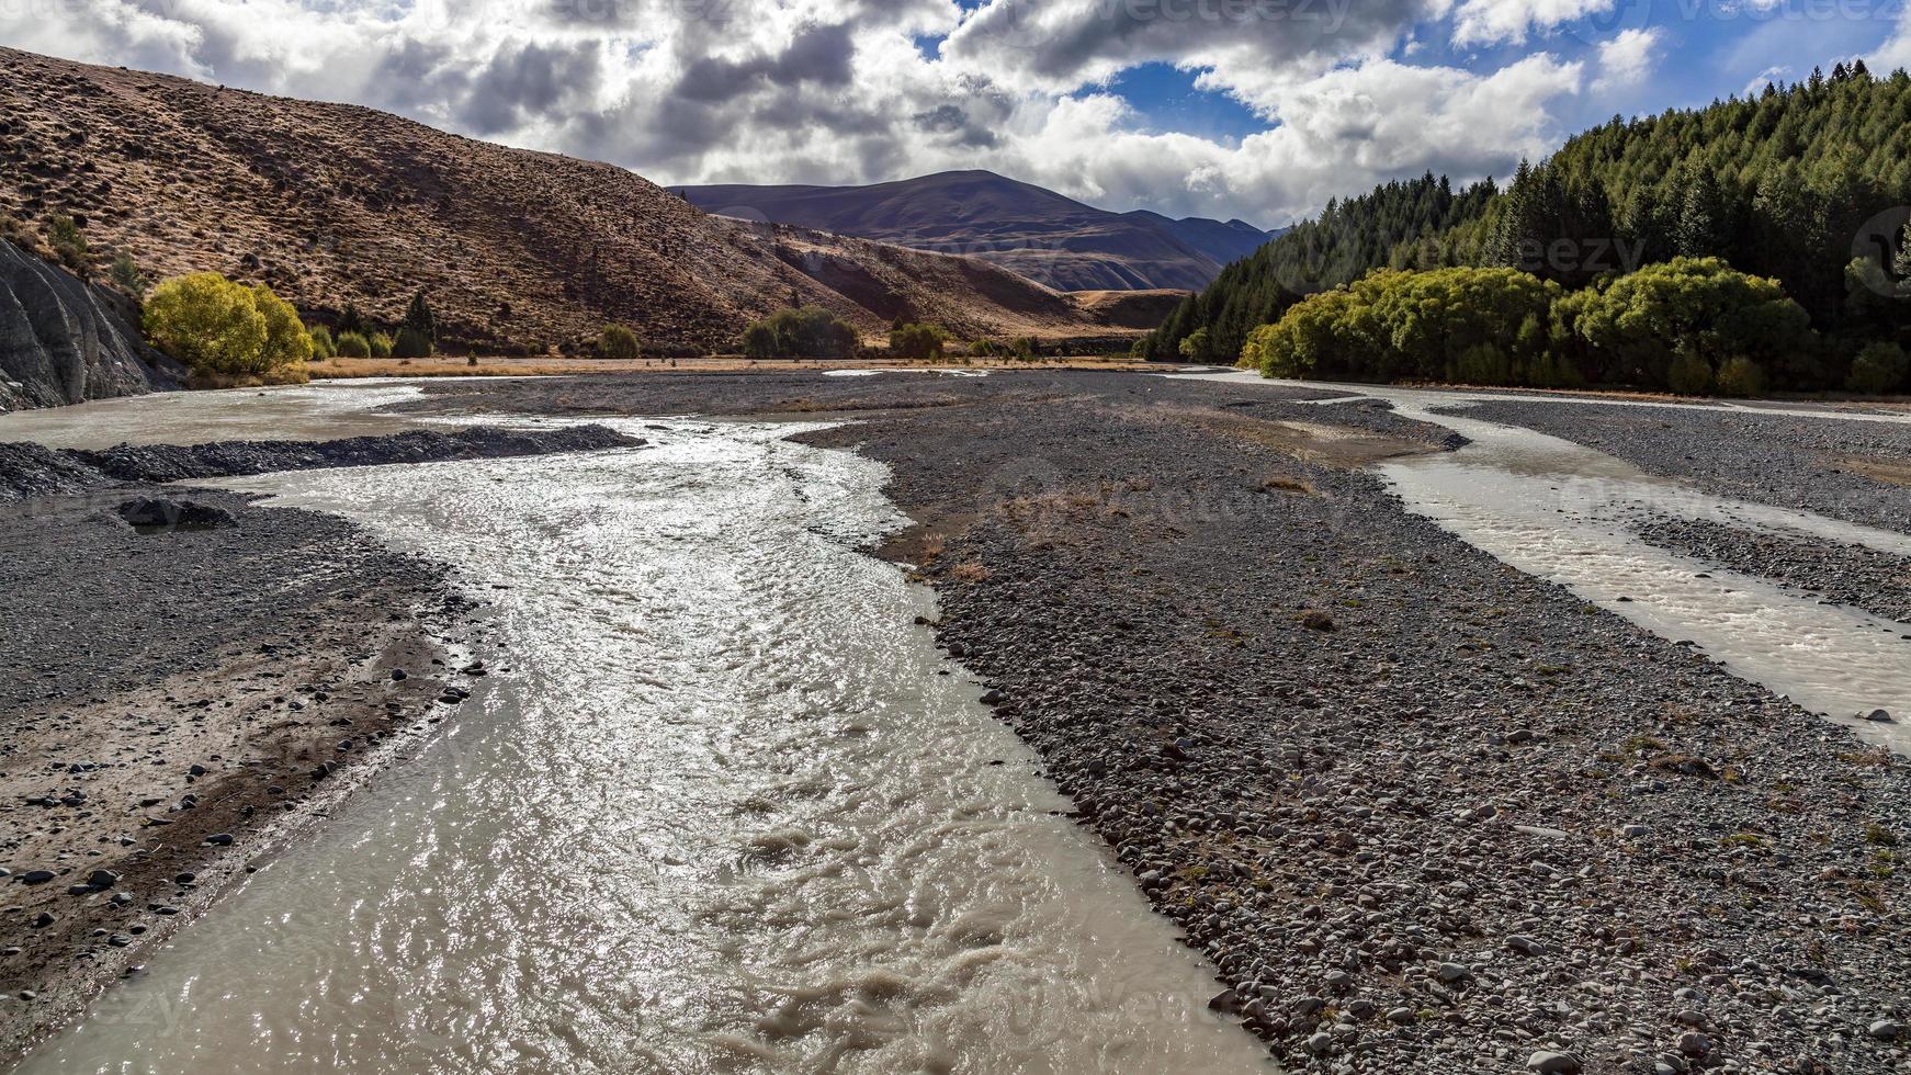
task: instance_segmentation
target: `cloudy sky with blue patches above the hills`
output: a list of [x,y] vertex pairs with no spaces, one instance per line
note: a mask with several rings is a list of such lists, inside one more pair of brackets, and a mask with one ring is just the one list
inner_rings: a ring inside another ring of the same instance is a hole
[[1911,0],[0,0],[0,44],[657,183],[988,168],[1278,227],[1613,115],[1907,67]]

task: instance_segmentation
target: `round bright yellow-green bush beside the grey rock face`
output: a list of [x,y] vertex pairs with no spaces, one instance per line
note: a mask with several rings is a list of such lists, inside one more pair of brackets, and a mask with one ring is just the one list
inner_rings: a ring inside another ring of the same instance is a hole
[[197,374],[294,374],[311,357],[311,336],[285,300],[264,285],[237,285],[218,273],[153,288],[145,334]]

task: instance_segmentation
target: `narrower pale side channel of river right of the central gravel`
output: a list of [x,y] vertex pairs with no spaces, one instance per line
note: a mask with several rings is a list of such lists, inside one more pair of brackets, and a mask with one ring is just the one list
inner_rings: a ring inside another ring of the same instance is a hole
[[[1712,496],[1559,437],[1466,416],[1466,407],[1504,399],[1504,393],[1267,382],[1246,372],[1198,376],[1345,391],[1321,403],[1384,399],[1405,418],[1466,435],[1471,443],[1460,451],[1393,460],[1378,472],[1408,510],[1496,559],[1559,582],[1661,638],[1691,642],[1733,674],[1789,695],[1871,743],[1911,754],[1911,722],[1879,724],[1859,718],[1877,708],[1911,714],[1911,628],[1823,603],[1766,579],[1678,556],[1640,538],[1630,523],[1651,514],[1714,519],[1861,544],[1894,556],[1911,556],[1911,537],[1814,512]],[[1571,397],[1514,399],[1580,405]],[[1664,411],[1695,407],[1609,397],[1586,403]],[[1854,422],[1911,420],[1901,414],[1793,411],[1781,405],[1760,405],[1756,411]]]

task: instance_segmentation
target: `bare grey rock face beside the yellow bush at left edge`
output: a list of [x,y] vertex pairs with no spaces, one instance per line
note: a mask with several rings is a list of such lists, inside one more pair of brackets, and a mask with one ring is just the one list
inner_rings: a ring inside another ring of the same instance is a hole
[[166,367],[120,300],[0,239],[0,411],[172,388]]

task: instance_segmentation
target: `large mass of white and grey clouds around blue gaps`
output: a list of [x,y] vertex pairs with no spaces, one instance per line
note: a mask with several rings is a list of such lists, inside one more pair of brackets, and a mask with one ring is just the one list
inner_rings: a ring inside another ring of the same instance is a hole
[[[1261,225],[1422,170],[1504,176],[1557,143],[1554,109],[1584,76],[1548,53],[1479,73],[1399,59],[1450,0],[1309,2],[1254,23],[1150,2],[86,0],[27,19],[0,0],[0,40],[363,103],[663,183],[992,168],[1114,210]],[[1013,15],[1034,23],[1015,32]],[[915,34],[948,34],[940,59]],[[1097,84],[1145,61],[1198,71],[1269,130],[1139,132]]]

